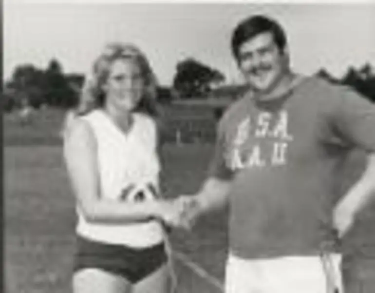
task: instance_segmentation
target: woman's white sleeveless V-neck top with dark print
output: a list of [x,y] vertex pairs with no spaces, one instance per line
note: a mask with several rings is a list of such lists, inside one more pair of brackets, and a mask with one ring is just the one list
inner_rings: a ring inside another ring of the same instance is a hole
[[[114,201],[134,201],[137,190],[148,190],[144,200],[154,200],[159,190],[160,171],[154,120],[134,114],[132,128],[124,134],[102,110],[81,118],[90,124],[96,138],[100,196]],[[163,241],[163,228],[156,220],[97,224],[87,222],[78,207],[77,212],[77,234],[87,238],[137,248]]]

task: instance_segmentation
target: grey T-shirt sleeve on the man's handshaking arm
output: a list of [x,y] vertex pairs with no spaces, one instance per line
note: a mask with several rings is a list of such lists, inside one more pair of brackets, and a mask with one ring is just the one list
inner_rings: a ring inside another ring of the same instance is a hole
[[220,180],[231,180],[234,176],[234,171],[228,168],[225,162],[227,146],[225,139],[225,123],[223,120],[218,124],[216,137],[213,157],[208,168],[208,176]]

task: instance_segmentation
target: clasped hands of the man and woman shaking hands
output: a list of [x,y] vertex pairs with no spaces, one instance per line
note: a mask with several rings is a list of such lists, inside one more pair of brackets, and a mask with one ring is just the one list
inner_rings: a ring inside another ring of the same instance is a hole
[[172,200],[161,200],[157,218],[172,228],[191,229],[201,213],[197,196],[181,195]]

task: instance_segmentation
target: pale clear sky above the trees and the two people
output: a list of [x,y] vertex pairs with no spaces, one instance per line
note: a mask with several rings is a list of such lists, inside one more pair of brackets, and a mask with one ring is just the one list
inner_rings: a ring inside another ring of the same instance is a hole
[[[13,3],[13,4],[12,4]],[[228,83],[241,82],[230,52],[239,21],[266,14],[284,27],[292,67],[336,77],[348,66],[375,66],[375,1],[368,3],[27,3],[3,6],[3,72],[17,65],[46,68],[56,58],[64,73],[89,70],[110,41],[133,42],[150,60],[159,81],[170,85],[176,64],[188,57],[219,69]]]

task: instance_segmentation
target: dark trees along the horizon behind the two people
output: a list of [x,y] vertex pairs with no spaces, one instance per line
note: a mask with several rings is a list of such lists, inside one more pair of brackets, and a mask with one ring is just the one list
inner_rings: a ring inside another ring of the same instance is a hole
[[[348,68],[342,78],[333,77],[324,68],[316,76],[332,83],[352,86],[375,102],[375,70],[369,63],[359,69]],[[65,74],[61,63],[56,59],[52,59],[46,69],[33,64],[19,65],[4,84],[3,109],[10,111],[25,105],[33,108],[43,105],[73,107],[77,103],[83,82],[82,74]],[[172,85],[157,88],[158,99],[169,102],[174,98],[206,98],[210,92],[220,89],[224,82],[225,76],[219,70],[196,59],[187,58],[177,63]],[[238,85],[233,85],[234,88],[236,86]]]

